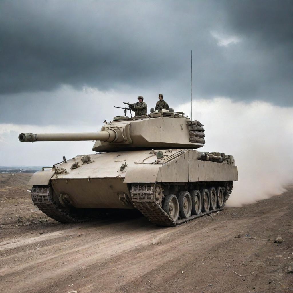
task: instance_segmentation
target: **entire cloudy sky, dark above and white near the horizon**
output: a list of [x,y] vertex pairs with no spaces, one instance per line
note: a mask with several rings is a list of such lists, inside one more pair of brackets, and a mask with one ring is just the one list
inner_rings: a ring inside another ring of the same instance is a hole
[[253,166],[281,190],[283,173],[292,178],[292,15],[289,0],[2,0],[0,166],[91,153],[91,142],[25,144],[18,134],[98,131],[139,95],[150,109],[162,93],[190,115],[192,51],[205,149],[237,154],[243,178]]

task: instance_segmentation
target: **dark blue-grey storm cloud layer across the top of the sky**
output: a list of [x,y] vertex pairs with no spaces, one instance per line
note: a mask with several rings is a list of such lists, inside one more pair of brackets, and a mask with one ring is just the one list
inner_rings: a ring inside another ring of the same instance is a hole
[[1,1],[0,102],[62,84],[103,91],[151,88],[175,101],[189,95],[193,50],[195,95],[292,106],[292,6]]

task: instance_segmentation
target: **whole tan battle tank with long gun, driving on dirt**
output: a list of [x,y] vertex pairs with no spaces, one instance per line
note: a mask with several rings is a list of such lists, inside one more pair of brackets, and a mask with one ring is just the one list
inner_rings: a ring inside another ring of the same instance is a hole
[[100,132],[21,133],[21,142],[95,141],[93,154],[63,156],[34,173],[33,203],[61,223],[137,209],[158,226],[176,226],[221,211],[238,170],[232,155],[197,150],[204,125],[172,109],[134,117],[126,110]]

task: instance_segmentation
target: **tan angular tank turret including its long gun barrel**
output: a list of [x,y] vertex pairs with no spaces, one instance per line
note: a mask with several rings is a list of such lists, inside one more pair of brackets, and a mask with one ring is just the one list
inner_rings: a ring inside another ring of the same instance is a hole
[[93,151],[196,149],[205,143],[203,125],[182,112],[154,112],[145,117],[118,116],[90,133],[21,133],[21,142],[95,140]]

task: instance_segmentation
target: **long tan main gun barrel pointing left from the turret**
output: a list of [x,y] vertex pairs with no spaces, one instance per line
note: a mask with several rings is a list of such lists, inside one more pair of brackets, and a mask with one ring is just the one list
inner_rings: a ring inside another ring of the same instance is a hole
[[119,142],[120,135],[115,130],[81,133],[21,133],[21,142],[56,142],[76,140],[100,140],[103,142]]

